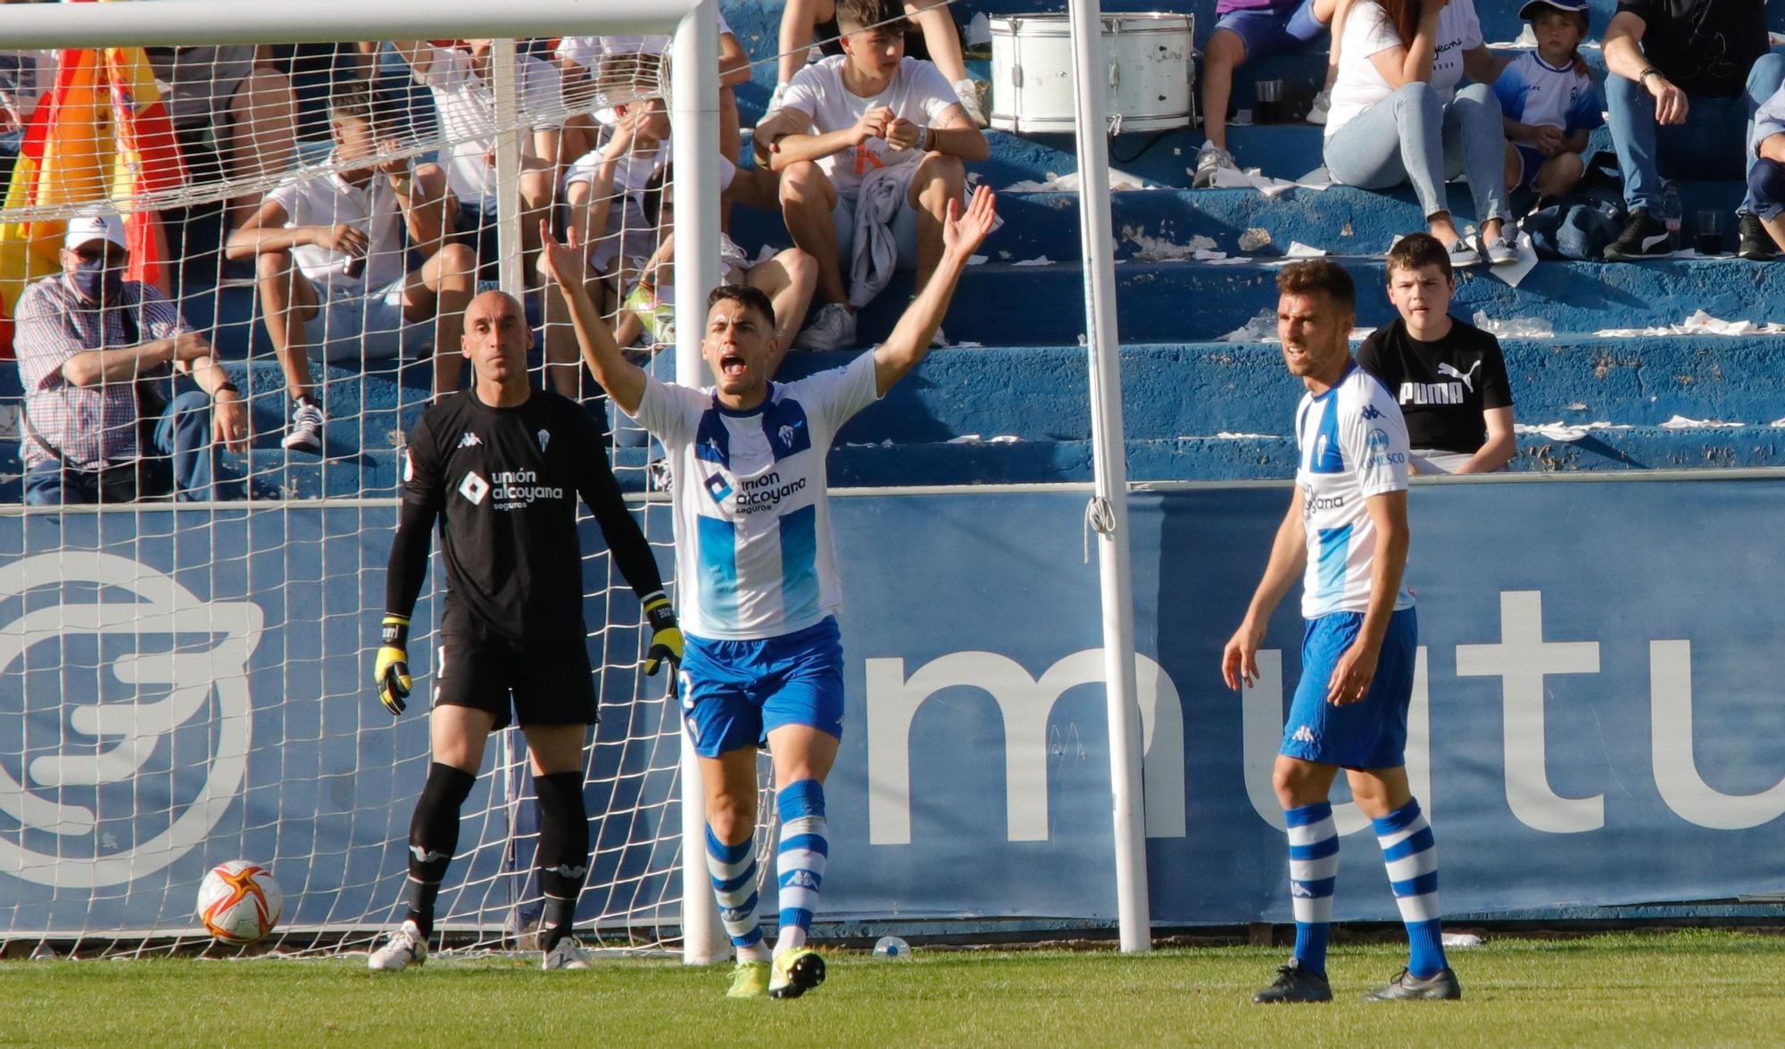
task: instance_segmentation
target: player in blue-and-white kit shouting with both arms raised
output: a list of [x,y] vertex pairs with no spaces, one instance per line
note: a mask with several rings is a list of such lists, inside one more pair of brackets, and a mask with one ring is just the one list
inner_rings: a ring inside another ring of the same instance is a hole
[[[730,997],[798,997],[825,979],[805,946],[828,855],[825,776],[843,735],[843,605],[830,548],[825,453],[837,430],[930,350],[967,257],[992,228],[980,187],[948,205],[942,260],[885,343],[844,368],[769,382],[775,309],[753,287],[707,298],[702,355],[716,387],[694,391],[627,362],[582,284],[580,244],[541,230],[577,341],[614,403],[669,453],[687,660],[682,714],[707,794],[707,869],[737,949]],[[775,762],[780,935],[757,922],[757,744]]]

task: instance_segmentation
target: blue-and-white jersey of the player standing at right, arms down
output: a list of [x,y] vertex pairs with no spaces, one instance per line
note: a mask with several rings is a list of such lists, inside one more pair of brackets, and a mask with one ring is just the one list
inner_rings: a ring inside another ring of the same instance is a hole
[[[1407,423],[1394,396],[1358,366],[1326,392],[1305,394],[1296,409],[1296,485],[1308,533],[1301,615],[1369,608],[1376,523],[1364,501],[1407,491]],[[1396,610],[1412,608],[1401,574]]]

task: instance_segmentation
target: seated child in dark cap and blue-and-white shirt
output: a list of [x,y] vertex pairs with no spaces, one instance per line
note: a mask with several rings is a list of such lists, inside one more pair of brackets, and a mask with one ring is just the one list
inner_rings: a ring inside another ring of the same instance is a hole
[[1494,95],[1507,127],[1507,191],[1537,191],[1537,207],[1574,189],[1587,171],[1587,136],[1605,123],[1592,75],[1580,61],[1587,0],[1530,0],[1537,48],[1501,70]]

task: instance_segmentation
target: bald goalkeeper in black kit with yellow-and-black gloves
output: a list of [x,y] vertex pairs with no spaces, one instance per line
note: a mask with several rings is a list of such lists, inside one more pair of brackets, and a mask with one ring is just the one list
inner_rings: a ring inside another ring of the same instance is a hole
[[589,865],[582,748],[596,721],[578,496],[644,607],[652,628],[644,671],[669,660],[673,673],[682,658],[682,632],[607,466],[605,435],[575,401],[532,389],[530,348],[532,330],[512,296],[487,291],[471,300],[464,312],[471,389],[428,409],[403,451],[403,505],[373,669],[393,715],[411,689],[409,615],[436,519],[446,598],[428,715],[434,760],[409,824],[409,913],[371,953],[378,971],[427,960],[434,899],[459,844],[459,808],[477,781],[484,740],[511,721],[527,735],[539,799],[544,967],[589,967],[569,935]]

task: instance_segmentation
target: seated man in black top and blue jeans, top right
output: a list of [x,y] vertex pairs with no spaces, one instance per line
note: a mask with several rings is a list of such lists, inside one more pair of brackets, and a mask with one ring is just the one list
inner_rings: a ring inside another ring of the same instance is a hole
[[[1630,207],[1605,257],[1667,255],[1674,246],[1658,214],[1665,178],[1753,173],[1755,109],[1785,80],[1785,55],[1769,54],[1765,4],[1756,0],[1619,0],[1605,30],[1605,66]],[[1771,259],[1773,237],[1753,198],[1735,214],[1742,259]]]

